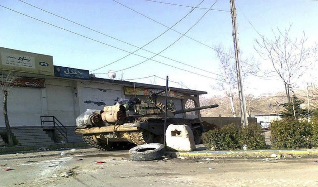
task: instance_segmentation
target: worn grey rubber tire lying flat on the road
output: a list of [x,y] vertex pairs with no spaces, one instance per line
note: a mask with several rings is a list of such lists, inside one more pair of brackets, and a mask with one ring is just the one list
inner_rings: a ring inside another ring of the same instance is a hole
[[[152,149],[152,150],[143,150],[143,149]],[[129,150],[129,155],[131,160],[135,161],[148,161],[148,160],[157,160],[164,156],[166,149],[161,143],[147,143],[143,145],[138,145]]]

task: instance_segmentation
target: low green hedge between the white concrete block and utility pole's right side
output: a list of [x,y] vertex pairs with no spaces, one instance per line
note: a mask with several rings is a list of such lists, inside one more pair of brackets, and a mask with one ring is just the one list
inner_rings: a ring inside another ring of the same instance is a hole
[[244,129],[237,129],[235,124],[203,133],[202,141],[208,148],[215,150],[236,150],[247,145],[247,149],[265,148],[262,129],[257,124],[249,124]]

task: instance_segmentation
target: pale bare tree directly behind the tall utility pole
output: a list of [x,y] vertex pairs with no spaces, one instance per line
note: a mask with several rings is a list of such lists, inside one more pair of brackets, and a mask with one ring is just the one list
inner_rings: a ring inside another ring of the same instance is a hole
[[[225,92],[225,95],[230,100],[230,107],[232,111],[232,116],[236,117],[237,112],[234,105],[234,95],[237,93],[237,74],[235,59],[233,58],[234,50],[225,49],[223,45],[218,45],[215,47],[217,49],[217,57],[220,61],[219,73],[221,76],[218,76],[217,88]],[[249,75],[256,75],[259,72],[259,65],[255,63],[253,58],[242,60],[242,76],[243,80]]]

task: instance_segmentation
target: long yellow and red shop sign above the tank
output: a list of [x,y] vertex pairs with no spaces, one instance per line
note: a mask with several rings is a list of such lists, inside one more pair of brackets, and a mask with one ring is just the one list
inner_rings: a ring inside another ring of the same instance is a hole
[[[150,95],[151,93],[158,93],[162,90],[160,89],[150,89],[150,88],[133,88],[133,87],[125,87],[124,92],[125,95]],[[164,93],[163,93],[164,95]],[[178,93],[174,91],[168,91],[168,97],[184,99],[183,93]]]

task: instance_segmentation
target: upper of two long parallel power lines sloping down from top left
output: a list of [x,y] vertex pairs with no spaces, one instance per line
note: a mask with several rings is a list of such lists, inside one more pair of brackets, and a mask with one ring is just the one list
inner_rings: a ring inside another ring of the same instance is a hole
[[[44,9],[42,9],[42,8],[39,8],[39,7],[35,6],[35,5],[32,5],[32,4],[30,4],[30,3],[27,3],[27,2],[25,2],[25,1],[22,1],[22,0],[18,0],[18,1],[20,1],[20,2],[22,2],[22,3],[25,3],[25,4],[27,4],[27,5],[30,5],[30,6],[32,6],[32,7],[34,7],[34,8],[39,9],[39,10],[42,10],[42,11],[44,11],[44,12],[46,12],[46,13],[49,13],[49,14],[51,14],[51,15],[53,15],[53,16],[56,16],[56,17],[59,17],[59,18],[61,18],[61,19],[66,20],[66,21],[69,21],[69,22],[71,22],[71,23],[73,23],[73,24],[77,24],[77,25],[79,25],[79,26],[81,26],[81,27],[84,27],[84,28],[89,29],[89,30],[91,30],[91,31],[94,31],[94,32],[96,32],[96,33],[102,34],[102,35],[104,35],[104,36],[107,36],[107,37],[109,37],[109,38],[113,38],[113,39],[115,39],[115,40],[117,40],[117,41],[120,41],[120,42],[122,42],[122,43],[125,43],[125,44],[128,44],[128,45],[134,46],[134,47],[136,47],[136,48],[142,49],[141,47],[138,47],[138,46],[136,46],[136,45],[130,44],[130,43],[128,43],[128,42],[125,42],[125,41],[120,40],[120,39],[118,39],[118,38],[115,38],[115,37],[113,37],[113,36],[107,35],[107,34],[101,32],[101,31],[97,31],[97,30],[92,29],[92,28],[90,28],[90,27],[87,27],[87,26],[85,26],[85,25],[83,25],[83,24],[79,24],[79,23],[77,23],[77,22],[75,22],[75,21],[72,21],[72,20],[67,19],[67,18],[65,18],[65,17],[59,16],[59,15],[57,15],[57,14],[54,14],[54,13],[52,13],[52,12],[50,12],[50,11],[44,10]],[[150,52],[150,53],[153,53],[153,54],[156,54],[155,52],[151,52],[151,51],[146,50],[146,49],[142,49],[142,50],[143,50],[143,51]],[[191,66],[191,65],[189,65],[189,64],[186,64],[186,63],[183,63],[183,62],[180,62],[180,61],[171,59],[171,58],[169,58],[169,57],[165,57],[165,56],[162,56],[162,55],[158,55],[158,56],[161,56],[161,57],[163,57],[163,58],[166,58],[166,59],[169,59],[169,60],[178,62],[178,63],[183,64],[183,65],[185,65],[185,66],[190,66],[190,67],[192,67],[192,68],[196,68],[196,69],[199,69],[199,70],[204,71],[204,72],[207,72],[207,73],[211,73],[211,74],[215,74],[215,75],[224,77],[223,75],[220,75],[220,74],[217,74],[217,73],[213,73],[213,72],[210,72],[210,71],[207,71],[207,70],[204,70],[204,69],[195,67],[195,66]]]

